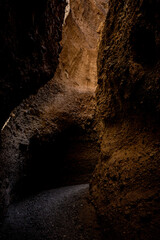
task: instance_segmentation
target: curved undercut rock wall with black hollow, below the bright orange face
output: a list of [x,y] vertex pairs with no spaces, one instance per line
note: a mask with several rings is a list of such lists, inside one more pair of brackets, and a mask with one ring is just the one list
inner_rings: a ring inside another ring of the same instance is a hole
[[64,92],[55,81],[14,110],[1,134],[7,203],[40,190],[89,181],[99,154],[94,111],[92,94]]

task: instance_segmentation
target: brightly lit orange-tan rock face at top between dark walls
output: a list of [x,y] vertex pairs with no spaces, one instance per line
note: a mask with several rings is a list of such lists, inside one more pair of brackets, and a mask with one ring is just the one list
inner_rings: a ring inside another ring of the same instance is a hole
[[64,22],[62,52],[56,78],[69,87],[94,91],[97,45],[108,1],[70,0]]

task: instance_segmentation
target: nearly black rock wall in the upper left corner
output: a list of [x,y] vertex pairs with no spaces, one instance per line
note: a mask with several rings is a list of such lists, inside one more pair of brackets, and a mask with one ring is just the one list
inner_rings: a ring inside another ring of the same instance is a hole
[[64,0],[1,0],[0,126],[14,107],[53,77],[64,8]]

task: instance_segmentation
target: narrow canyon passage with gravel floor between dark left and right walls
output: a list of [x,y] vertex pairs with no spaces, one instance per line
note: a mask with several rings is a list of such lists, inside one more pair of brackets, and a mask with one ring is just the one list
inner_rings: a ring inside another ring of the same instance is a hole
[[95,88],[107,1],[67,3],[53,79],[2,128],[10,206],[1,240],[102,239],[89,182],[99,157]]

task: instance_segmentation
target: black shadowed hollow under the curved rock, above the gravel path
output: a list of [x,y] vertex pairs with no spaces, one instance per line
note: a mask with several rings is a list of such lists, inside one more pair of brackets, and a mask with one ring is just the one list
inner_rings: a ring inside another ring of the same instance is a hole
[[92,137],[86,130],[71,126],[58,136],[33,137],[28,150],[20,146],[27,160],[16,195],[22,198],[42,190],[88,183],[98,160],[98,146]]

